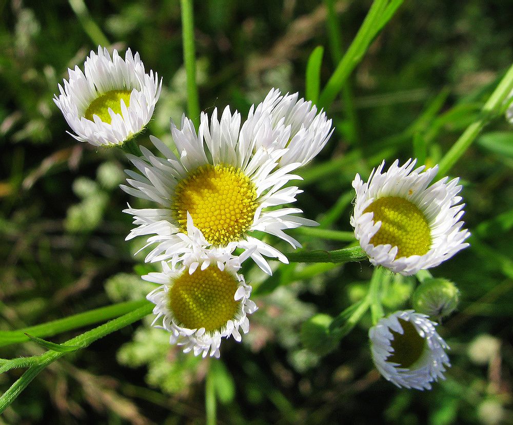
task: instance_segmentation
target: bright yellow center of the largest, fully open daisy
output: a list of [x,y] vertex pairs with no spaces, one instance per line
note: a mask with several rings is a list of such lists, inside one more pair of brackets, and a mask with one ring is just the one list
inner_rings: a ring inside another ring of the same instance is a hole
[[213,245],[239,240],[253,223],[257,190],[244,173],[231,165],[204,165],[175,188],[171,209],[183,233],[187,211],[194,225]]

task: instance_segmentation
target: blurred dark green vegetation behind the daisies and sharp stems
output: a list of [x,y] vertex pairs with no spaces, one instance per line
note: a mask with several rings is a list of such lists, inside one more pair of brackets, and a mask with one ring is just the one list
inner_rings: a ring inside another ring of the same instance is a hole
[[[369,1],[205,0],[194,3],[202,110],[229,104],[243,116],[271,87],[304,95],[308,56],[325,47],[322,82],[356,34]],[[328,7],[336,20],[328,27]],[[124,242],[130,199],[118,185],[121,152],[79,144],[54,105],[67,68],[108,44],[139,51],[164,87],[149,133],[171,144],[169,118],[186,110],[177,1],[1,1],[0,329],[17,329],[144,297],[139,276],[154,269],[143,240]],[[328,114],[330,142],[302,170],[298,206],[325,228],[351,230],[351,180],[383,158],[427,146],[440,160],[474,121],[513,60],[513,7],[504,0],[407,0],[370,46]],[[339,45],[340,44],[340,45]],[[246,268],[259,311],[250,333],[222,345],[212,366],[219,423],[513,423],[513,127],[503,118],[451,170],[464,184],[472,247],[432,270],[452,279],[462,301],[440,333],[452,368],[431,392],[399,390],[373,369],[366,317],[325,356],[302,345],[315,313],[337,315],[367,291],[372,268],[292,264],[272,279]],[[149,145],[148,145],[149,146]],[[293,232],[292,232],[293,233]],[[336,249],[295,231],[309,248]],[[285,245],[273,241],[279,248]],[[277,266],[277,265],[276,265]],[[387,312],[409,308],[414,281],[396,278]],[[150,320],[49,366],[0,423],[204,423],[208,360],[184,355]],[[77,334],[53,338],[61,342]],[[1,358],[42,351],[0,347]],[[5,391],[23,370],[0,375]]]

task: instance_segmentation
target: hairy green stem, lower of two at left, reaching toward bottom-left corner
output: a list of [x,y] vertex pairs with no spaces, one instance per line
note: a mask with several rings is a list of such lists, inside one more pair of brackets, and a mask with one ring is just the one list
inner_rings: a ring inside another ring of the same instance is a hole
[[[94,329],[78,335],[75,338],[66,341],[69,345],[81,345],[87,347],[94,341],[103,338],[104,336],[121,329],[137,320],[142,319],[150,314],[153,309],[153,304],[145,300],[145,305],[136,308],[136,310],[125,314],[124,316],[117,317],[103,325],[95,327]],[[64,356],[66,352],[48,351],[39,356],[39,364],[34,364],[16,381],[11,387],[0,397],[0,413],[2,413],[14,399],[21,393],[27,385],[34,379],[48,364],[54,360]]]

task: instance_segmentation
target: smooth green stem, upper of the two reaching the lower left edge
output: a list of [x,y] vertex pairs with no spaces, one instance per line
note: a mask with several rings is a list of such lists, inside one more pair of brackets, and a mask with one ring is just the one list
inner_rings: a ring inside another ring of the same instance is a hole
[[16,342],[30,341],[25,335],[29,334],[36,337],[51,337],[66,331],[71,331],[79,327],[84,327],[93,323],[103,322],[105,320],[119,317],[135,308],[146,305],[148,301],[145,299],[137,301],[120,302],[119,304],[109,305],[107,307],[95,308],[84,313],[78,313],[63,319],[53,320],[51,322],[42,323],[35,326],[25,327],[16,331],[0,332],[0,346],[13,344]]

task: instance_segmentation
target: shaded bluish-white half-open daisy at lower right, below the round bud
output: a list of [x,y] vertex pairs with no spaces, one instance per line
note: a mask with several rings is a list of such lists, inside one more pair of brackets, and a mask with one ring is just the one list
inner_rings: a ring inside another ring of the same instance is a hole
[[399,388],[430,390],[432,381],[445,379],[449,347],[435,330],[437,323],[413,310],[381,319],[369,330],[372,360],[385,379]]

